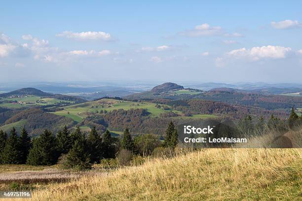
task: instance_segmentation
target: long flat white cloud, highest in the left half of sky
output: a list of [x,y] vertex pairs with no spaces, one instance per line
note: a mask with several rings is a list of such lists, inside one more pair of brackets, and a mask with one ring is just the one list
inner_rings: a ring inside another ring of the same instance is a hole
[[56,34],[59,37],[73,38],[77,40],[112,40],[110,33],[105,32],[80,32],[74,33],[70,31],[65,31],[63,33]]

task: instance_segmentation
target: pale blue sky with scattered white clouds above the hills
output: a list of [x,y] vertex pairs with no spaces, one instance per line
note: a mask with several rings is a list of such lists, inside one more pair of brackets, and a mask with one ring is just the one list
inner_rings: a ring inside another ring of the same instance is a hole
[[302,1],[3,1],[0,83],[302,83]]

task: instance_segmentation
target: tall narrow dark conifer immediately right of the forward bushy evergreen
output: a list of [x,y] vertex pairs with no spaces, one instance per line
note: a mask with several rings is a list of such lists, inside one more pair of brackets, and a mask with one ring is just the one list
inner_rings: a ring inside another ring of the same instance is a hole
[[91,163],[100,162],[102,159],[102,138],[101,135],[96,131],[95,127],[93,127],[90,133],[87,135],[87,143]]

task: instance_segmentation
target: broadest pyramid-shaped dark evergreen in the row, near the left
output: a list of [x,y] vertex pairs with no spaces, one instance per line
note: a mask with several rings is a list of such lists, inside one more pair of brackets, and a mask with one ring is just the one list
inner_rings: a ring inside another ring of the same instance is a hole
[[58,152],[56,138],[47,130],[34,141],[28,155],[27,164],[49,166],[57,162]]

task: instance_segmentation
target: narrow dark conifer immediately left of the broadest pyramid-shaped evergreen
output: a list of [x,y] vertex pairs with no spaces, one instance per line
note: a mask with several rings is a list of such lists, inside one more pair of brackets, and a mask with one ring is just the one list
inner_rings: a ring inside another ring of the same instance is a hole
[[28,135],[25,128],[22,128],[19,137],[19,151],[20,151],[20,163],[25,164],[29,150],[32,147],[31,137]]

